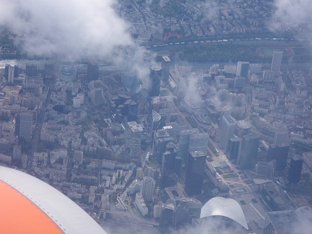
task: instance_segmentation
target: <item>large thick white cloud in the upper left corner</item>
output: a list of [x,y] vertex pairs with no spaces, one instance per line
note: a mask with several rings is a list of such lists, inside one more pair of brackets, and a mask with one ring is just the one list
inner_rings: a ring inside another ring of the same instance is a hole
[[132,45],[114,0],[2,0],[0,24],[26,35],[24,50],[37,56],[105,56]]

